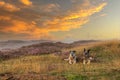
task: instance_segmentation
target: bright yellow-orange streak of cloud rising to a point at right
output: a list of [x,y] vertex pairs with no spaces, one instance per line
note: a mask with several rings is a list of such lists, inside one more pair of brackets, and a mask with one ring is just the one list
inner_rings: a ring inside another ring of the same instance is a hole
[[79,28],[89,21],[89,17],[96,12],[100,12],[106,3],[98,6],[92,6],[89,9],[80,9],[71,11],[61,18],[55,18],[44,22],[45,28],[49,31],[69,31],[71,29]]

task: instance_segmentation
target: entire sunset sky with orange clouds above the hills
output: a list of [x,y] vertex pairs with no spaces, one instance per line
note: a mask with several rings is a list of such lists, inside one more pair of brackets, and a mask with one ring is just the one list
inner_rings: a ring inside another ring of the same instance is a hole
[[120,39],[120,0],[0,0],[0,40]]

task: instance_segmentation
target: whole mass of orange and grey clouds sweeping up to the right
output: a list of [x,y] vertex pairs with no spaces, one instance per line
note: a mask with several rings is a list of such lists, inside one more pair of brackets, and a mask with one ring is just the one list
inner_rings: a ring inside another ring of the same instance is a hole
[[33,5],[27,8],[18,8],[11,3],[0,1],[0,32],[25,34],[27,38],[32,39],[53,38],[51,32],[80,28],[89,21],[91,15],[100,12],[106,6],[105,2],[93,5],[89,0],[83,0],[82,4],[79,4],[78,0],[70,0],[73,6],[64,12],[62,4],[32,4],[31,1],[17,2],[19,5]]

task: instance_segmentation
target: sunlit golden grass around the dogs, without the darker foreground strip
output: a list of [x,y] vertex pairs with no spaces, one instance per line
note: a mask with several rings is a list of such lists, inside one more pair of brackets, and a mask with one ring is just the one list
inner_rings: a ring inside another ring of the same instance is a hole
[[[55,56],[53,54],[39,55],[39,56],[24,56],[18,59],[10,59],[8,61],[1,61],[0,63],[0,73],[15,73],[15,74],[47,74],[47,75],[74,75],[87,74],[88,77],[93,78],[97,75],[100,78],[110,79],[114,77],[112,73],[118,75],[120,68],[120,50],[119,41],[112,42],[98,42],[92,43],[77,48],[73,50],[80,51],[82,54],[83,47],[92,49],[92,53],[96,52],[96,57],[98,56],[98,62],[91,62],[91,64],[83,65],[82,62],[70,65],[61,59],[60,56]],[[103,49],[103,50],[102,50]],[[98,51],[97,51],[98,50]],[[65,50],[64,50],[65,51]],[[91,53],[91,54],[92,54]],[[115,70],[115,71],[114,71]],[[114,72],[112,72],[114,71]],[[104,75],[105,74],[105,75]],[[108,77],[111,74],[111,77]],[[119,76],[119,75],[118,75]]]

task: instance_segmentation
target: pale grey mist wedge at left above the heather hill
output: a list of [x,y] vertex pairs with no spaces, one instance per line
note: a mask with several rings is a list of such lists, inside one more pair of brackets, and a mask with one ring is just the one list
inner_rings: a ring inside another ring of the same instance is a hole
[[43,42],[52,42],[50,40],[8,40],[8,41],[1,41],[0,42],[0,50],[4,49],[17,49],[22,46],[28,46],[32,44],[38,44]]

